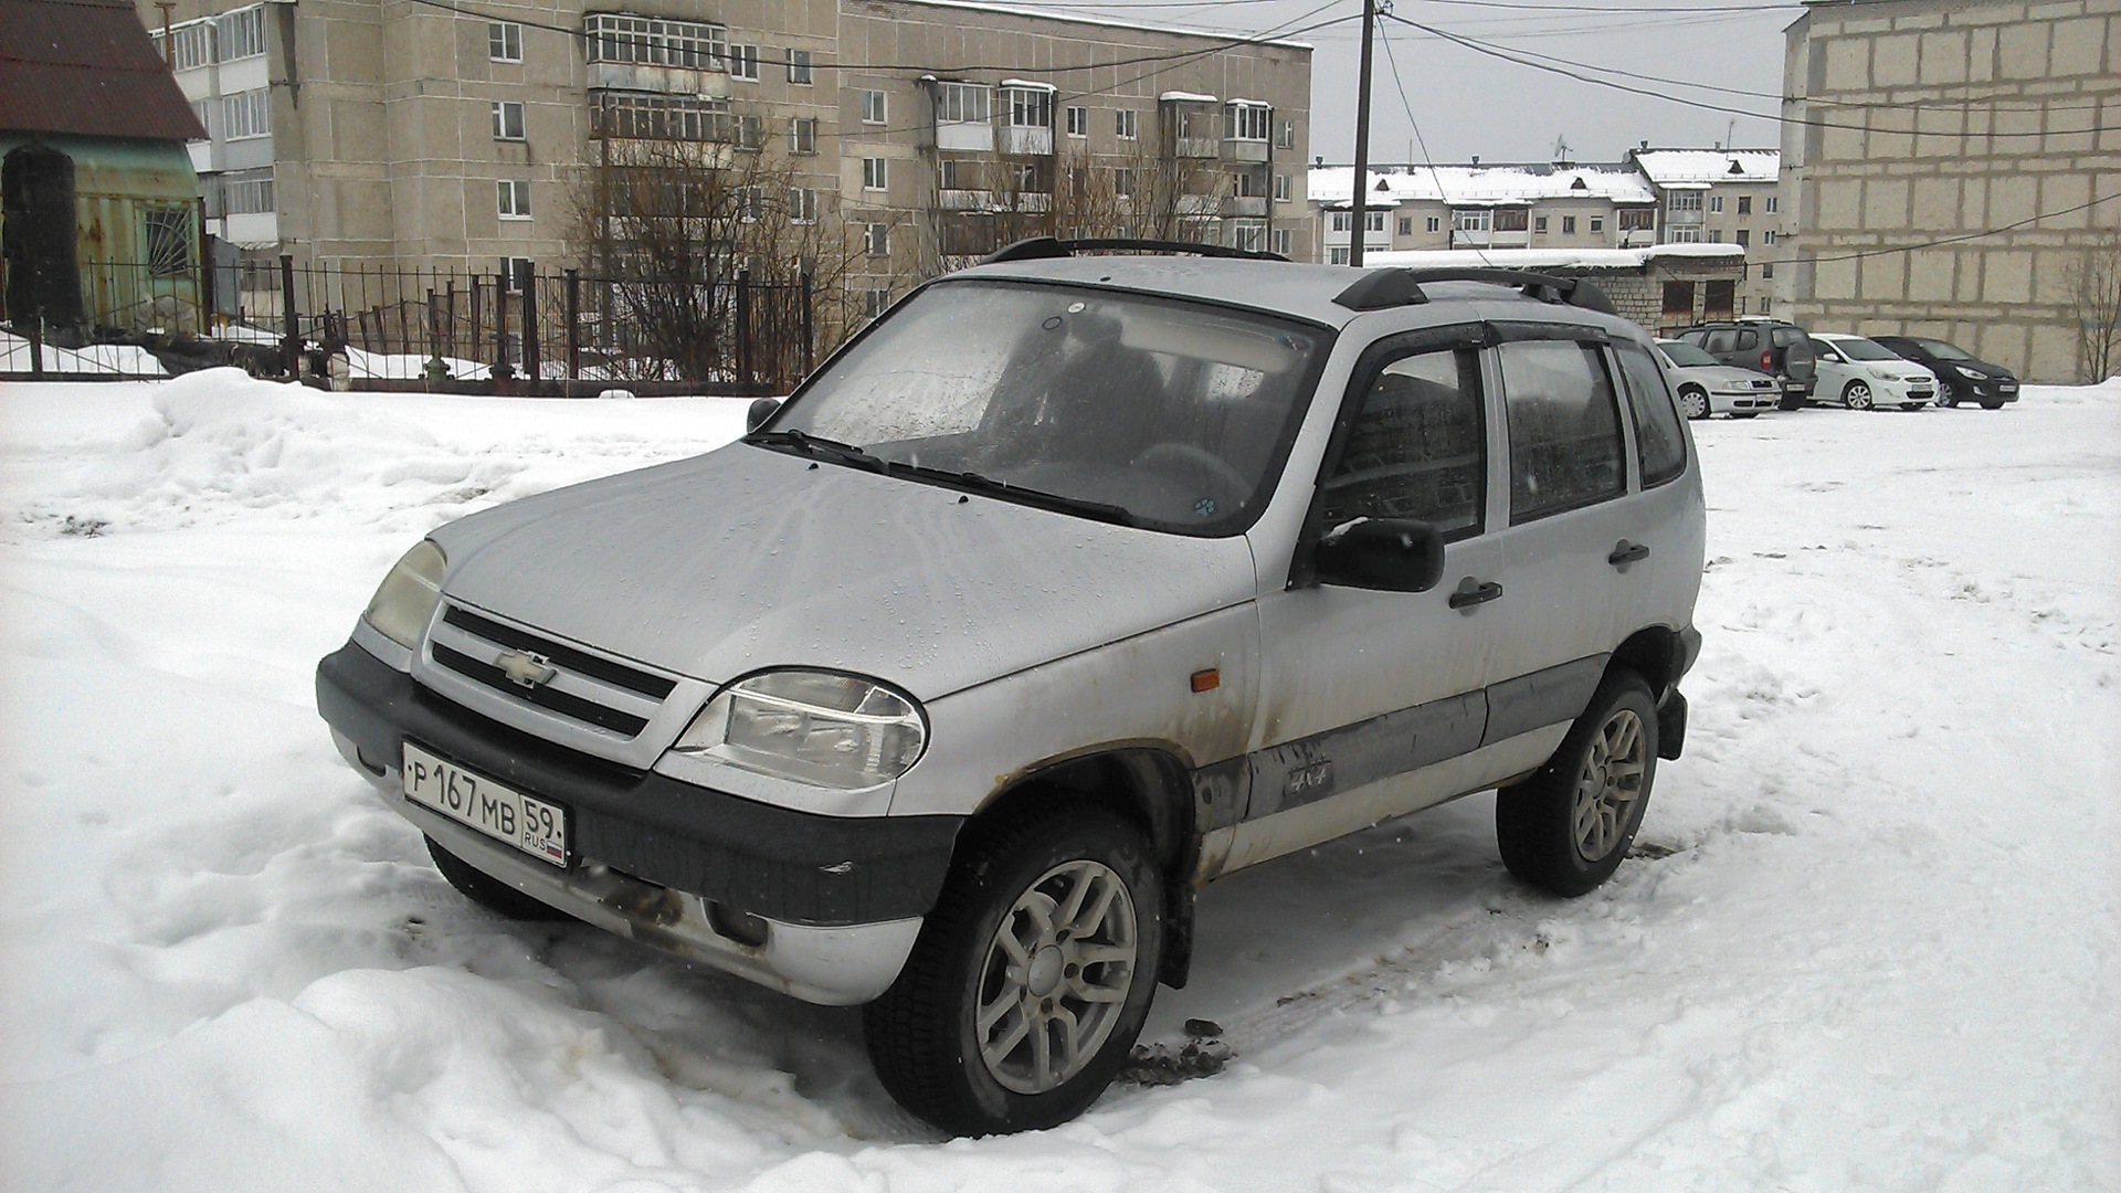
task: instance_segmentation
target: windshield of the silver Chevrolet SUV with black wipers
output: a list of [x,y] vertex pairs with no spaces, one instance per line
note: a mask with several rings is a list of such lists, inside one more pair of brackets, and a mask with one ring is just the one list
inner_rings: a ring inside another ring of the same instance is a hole
[[1313,327],[1194,304],[942,282],[753,439],[789,450],[836,442],[865,452],[836,459],[893,476],[1190,535],[1237,533],[1270,495],[1326,346]]

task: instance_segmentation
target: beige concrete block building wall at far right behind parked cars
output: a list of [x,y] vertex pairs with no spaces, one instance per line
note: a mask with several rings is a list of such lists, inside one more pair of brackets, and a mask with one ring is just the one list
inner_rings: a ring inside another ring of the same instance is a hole
[[2121,0],[1809,0],[1786,38],[1796,321],[2074,380],[2072,270],[2121,227]]

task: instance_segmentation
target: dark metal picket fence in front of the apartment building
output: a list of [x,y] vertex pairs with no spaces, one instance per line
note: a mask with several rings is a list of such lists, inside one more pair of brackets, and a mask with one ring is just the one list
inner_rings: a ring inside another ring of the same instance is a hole
[[[787,393],[851,325],[810,274],[604,278],[577,270],[401,270],[244,261],[115,278],[81,327],[0,310],[0,376],[142,376],[240,365],[354,388]],[[189,284],[182,284],[189,282]],[[132,352],[123,352],[129,348]],[[153,365],[159,361],[159,369]]]

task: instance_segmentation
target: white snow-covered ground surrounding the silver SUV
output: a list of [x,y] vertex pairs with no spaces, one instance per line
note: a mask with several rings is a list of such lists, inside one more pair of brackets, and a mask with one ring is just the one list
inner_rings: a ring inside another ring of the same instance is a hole
[[2074,1191],[2121,1185],[2121,382],[1697,425],[1705,650],[1637,858],[1476,796],[1237,875],[1217,1076],[944,1142],[859,1013],[486,915],[312,667],[428,526],[742,401],[0,395],[0,1187]]

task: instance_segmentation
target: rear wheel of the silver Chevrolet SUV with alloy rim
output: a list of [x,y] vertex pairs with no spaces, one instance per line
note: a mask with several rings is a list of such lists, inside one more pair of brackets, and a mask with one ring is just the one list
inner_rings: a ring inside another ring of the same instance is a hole
[[1495,794],[1504,866],[1559,896],[1597,887],[1627,858],[1654,779],[1657,701],[1640,675],[1614,671],[1546,766]]

